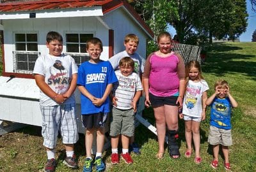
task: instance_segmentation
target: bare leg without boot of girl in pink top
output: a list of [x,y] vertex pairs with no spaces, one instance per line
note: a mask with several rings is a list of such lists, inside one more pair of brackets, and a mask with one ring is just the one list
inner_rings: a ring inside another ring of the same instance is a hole
[[154,108],[154,116],[156,118],[156,129],[159,150],[158,153],[164,153],[164,138],[166,133],[166,123],[164,117],[164,106]]

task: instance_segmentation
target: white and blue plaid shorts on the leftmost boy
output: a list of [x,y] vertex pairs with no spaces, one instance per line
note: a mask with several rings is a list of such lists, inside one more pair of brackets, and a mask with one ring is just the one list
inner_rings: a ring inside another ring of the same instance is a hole
[[61,104],[56,106],[40,106],[42,113],[43,145],[55,148],[58,131],[60,130],[64,144],[74,144],[78,140],[76,104]]

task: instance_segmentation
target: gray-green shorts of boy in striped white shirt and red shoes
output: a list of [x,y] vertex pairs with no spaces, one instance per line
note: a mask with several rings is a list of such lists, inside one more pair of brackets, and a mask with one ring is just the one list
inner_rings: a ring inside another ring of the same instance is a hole
[[113,117],[110,124],[110,136],[123,134],[131,137],[134,135],[134,111],[119,110],[113,107]]

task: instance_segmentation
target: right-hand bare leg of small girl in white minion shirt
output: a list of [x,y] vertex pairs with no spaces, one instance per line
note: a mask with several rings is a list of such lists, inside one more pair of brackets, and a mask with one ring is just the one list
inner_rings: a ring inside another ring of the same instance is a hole
[[193,141],[195,157],[200,157],[200,122],[192,121]]

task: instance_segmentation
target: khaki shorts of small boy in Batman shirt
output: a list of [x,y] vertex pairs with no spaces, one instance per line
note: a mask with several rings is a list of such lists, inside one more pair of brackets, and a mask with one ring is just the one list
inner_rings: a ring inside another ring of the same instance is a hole
[[231,146],[232,145],[232,137],[231,137],[231,129],[219,129],[214,126],[210,126],[210,132],[208,136],[208,142],[210,145],[223,145],[223,146]]

